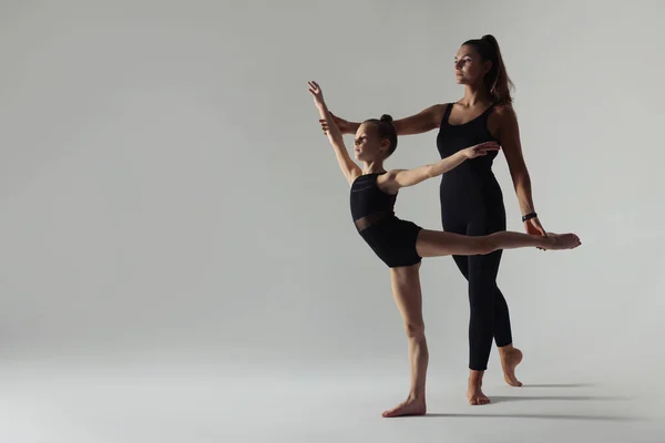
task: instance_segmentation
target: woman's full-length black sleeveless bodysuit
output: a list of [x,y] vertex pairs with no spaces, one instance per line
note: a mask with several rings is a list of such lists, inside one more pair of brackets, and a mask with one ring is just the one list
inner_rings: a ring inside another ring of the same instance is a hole
[[[495,141],[488,130],[490,106],[477,119],[461,125],[448,120],[448,105],[437,147],[441,158],[479,143]],[[468,159],[441,178],[441,222],[443,229],[469,236],[489,235],[505,230],[505,209],[501,187],[492,173],[497,152]],[[492,338],[498,347],[512,342],[510,315],[503,295],[497,286],[501,250],[489,255],[453,256],[457,266],[469,281],[471,319],[469,322],[469,368],[487,369]]]

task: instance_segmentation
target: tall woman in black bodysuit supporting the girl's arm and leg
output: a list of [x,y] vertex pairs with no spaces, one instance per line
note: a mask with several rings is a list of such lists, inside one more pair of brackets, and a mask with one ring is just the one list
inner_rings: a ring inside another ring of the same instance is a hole
[[[398,135],[439,130],[437,147],[441,157],[479,143],[501,145],[520,202],[528,234],[546,236],[533,206],[531,181],[522,156],[520,133],[511,103],[510,81],[501,51],[492,35],[464,42],[454,58],[454,75],[464,85],[464,96],[456,103],[437,104],[393,122]],[[359,124],[332,116],[342,134],[355,133]],[[324,131],[326,121],[320,121]],[[492,173],[495,152],[467,162],[441,179],[443,229],[469,236],[484,236],[505,229],[503,195]],[[482,377],[495,340],[508,384],[521,387],[514,370],[522,352],[512,344],[508,305],[497,286],[501,250],[466,257],[453,255],[469,282],[469,369],[467,398],[470,404],[490,400],[482,392]]]

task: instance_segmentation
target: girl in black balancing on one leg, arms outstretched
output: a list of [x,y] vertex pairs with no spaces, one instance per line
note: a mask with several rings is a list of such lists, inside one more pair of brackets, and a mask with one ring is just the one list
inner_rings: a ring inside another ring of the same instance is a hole
[[580,239],[573,234],[544,237],[505,230],[487,236],[467,236],[422,229],[411,222],[397,218],[393,208],[400,188],[454,171],[463,164],[469,164],[471,158],[488,156],[498,151],[499,146],[495,142],[484,142],[458,150],[432,165],[387,172],[383,168],[383,161],[397,147],[397,132],[392,126],[392,119],[385,115],[380,120],[368,120],[358,126],[355,155],[364,164],[361,169],[349,157],[342,134],[328,112],[318,84],[309,82],[309,92],[314,95],[320,117],[326,123],[328,128],[326,133],[341,172],[351,186],[350,206],[356,228],[390,269],[393,297],[400,309],[409,340],[410,392],[405,402],[383,412],[383,416],[422,415],[427,410],[424,381],[428,364],[419,279],[422,257],[451,254],[488,255],[500,249],[530,246],[572,249],[580,245]]

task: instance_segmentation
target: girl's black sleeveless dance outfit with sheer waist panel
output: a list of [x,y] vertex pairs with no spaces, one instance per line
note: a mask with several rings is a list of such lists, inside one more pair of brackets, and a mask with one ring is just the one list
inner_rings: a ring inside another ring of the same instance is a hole
[[365,174],[351,184],[351,217],[360,236],[376,255],[390,267],[412,266],[421,261],[416,239],[421,227],[395,216],[397,195],[382,192],[377,177]]

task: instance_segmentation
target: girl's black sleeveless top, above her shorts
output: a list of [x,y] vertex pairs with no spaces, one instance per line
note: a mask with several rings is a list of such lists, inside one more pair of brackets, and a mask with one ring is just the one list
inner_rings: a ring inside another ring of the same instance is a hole
[[390,195],[377,186],[377,177],[386,173],[358,176],[351,184],[351,217],[358,230],[389,218],[395,218],[397,194]]

